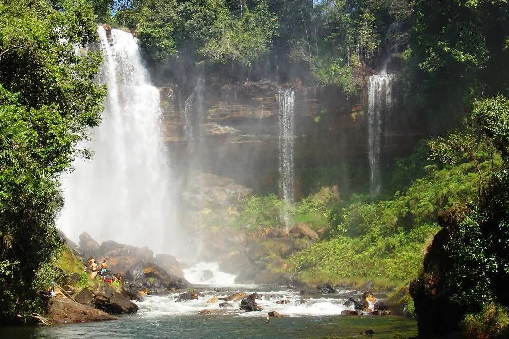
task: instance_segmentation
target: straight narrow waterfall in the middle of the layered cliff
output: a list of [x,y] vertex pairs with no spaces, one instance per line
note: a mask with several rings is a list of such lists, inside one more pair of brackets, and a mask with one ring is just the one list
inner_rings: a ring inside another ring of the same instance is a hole
[[[279,190],[289,205],[294,201],[294,91],[279,91]],[[291,224],[287,208],[282,213],[287,231]]]

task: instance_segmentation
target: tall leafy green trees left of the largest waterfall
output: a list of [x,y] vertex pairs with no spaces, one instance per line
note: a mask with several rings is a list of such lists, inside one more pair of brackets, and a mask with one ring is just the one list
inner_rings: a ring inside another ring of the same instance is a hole
[[87,2],[0,2],[0,319],[40,307],[52,269],[68,170],[101,120],[104,89],[92,82],[100,53],[74,54],[95,39]]

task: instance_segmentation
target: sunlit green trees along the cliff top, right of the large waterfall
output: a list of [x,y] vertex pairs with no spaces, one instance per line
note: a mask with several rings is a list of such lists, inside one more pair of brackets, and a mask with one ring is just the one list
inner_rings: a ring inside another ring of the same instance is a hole
[[259,80],[267,77],[269,63],[283,81],[296,69],[308,84],[352,95],[360,88],[356,72],[378,63],[387,49],[390,23],[409,21],[410,3],[391,3],[134,0],[115,2],[115,16],[105,21],[136,34],[161,80],[172,76],[184,83],[186,74],[175,68],[221,81]]

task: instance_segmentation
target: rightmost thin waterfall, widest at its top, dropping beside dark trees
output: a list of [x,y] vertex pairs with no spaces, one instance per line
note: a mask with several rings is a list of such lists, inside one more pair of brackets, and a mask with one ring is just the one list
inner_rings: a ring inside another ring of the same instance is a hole
[[[394,76],[382,71],[369,78],[368,130],[371,168],[371,196],[380,193],[380,150],[383,120],[389,120],[392,110],[392,84]],[[382,118],[385,119],[382,119]]]

